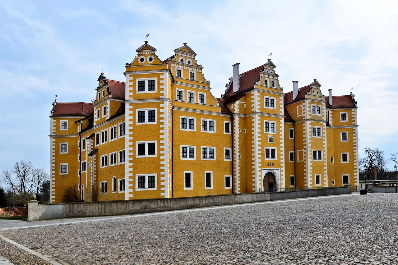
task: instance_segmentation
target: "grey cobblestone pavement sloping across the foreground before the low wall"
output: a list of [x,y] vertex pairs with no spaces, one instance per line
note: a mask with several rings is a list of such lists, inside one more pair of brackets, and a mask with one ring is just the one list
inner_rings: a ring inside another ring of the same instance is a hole
[[[137,215],[0,234],[70,264],[395,265],[397,220],[398,194],[370,193]],[[6,255],[10,246],[2,241],[0,254],[13,263],[46,264],[22,261],[25,257],[18,256],[18,251],[14,259],[14,249]]]

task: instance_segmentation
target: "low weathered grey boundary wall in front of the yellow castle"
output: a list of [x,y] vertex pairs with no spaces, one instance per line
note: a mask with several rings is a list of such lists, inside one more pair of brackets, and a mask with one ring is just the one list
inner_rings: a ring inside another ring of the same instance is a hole
[[[29,204],[28,220],[47,220],[69,217],[107,216],[122,214],[137,214],[146,212],[163,212],[190,208],[233,205],[241,203],[256,203],[263,201],[278,201],[305,197],[349,194],[350,186],[312,189],[304,191],[286,191],[275,193],[243,193],[228,195],[213,195],[203,197],[145,199],[129,201],[101,201],[88,203],[57,203],[38,205]],[[37,201],[35,201],[37,202]],[[32,211],[31,211],[32,209]],[[36,217],[37,216],[37,217]]]

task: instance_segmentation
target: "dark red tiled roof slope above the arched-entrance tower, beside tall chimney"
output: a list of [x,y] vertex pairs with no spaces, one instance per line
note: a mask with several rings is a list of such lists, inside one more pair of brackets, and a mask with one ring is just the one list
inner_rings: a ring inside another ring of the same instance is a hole
[[252,90],[254,88],[254,83],[258,82],[260,79],[260,72],[264,69],[264,64],[261,66],[258,66],[257,68],[254,68],[252,70],[249,70],[247,72],[244,72],[240,74],[239,82],[239,90],[234,93],[234,83],[231,80],[231,85],[228,88],[228,91],[224,95],[224,99],[232,99],[238,97],[238,95],[242,95],[245,92]]

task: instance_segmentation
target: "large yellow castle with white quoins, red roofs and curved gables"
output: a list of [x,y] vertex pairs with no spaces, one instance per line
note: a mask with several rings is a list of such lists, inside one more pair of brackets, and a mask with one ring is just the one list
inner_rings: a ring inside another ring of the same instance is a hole
[[315,79],[284,93],[268,59],[234,64],[216,98],[186,43],[166,60],[148,41],[136,51],[125,82],[101,73],[92,103],[53,103],[50,203],[359,185],[352,93]]

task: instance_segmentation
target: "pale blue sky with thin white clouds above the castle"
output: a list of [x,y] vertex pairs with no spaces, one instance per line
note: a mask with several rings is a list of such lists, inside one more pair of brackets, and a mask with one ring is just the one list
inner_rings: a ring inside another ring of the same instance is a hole
[[[359,153],[398,152],[398,1],[0,2],[0,172],[30,160],[49,171],[50,110],[91,102],[98,76],[125,81],[125,63],[149,44],[162,60],[185,41],[212,93],[267,62],[284,92],[314,78],[328,95],[355,94]],[[390,168],[394,164],[388,164]]]

